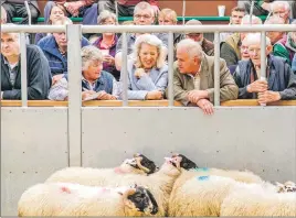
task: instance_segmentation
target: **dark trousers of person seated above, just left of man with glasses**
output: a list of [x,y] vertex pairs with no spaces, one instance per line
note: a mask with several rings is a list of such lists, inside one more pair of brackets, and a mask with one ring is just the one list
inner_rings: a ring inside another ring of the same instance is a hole
[[[117,4],[118,7],[118,17],[133,17],[134,15],[134,9],[135,6],[123,6]],[[115,1],[114,0],[104,0],[99,1],[99,8],[102,10],[108,10],[115,13]]]

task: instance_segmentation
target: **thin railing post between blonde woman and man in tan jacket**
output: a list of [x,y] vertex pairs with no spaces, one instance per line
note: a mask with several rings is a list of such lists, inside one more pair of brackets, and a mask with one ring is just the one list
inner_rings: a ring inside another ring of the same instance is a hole
[[168,94],[169,94],[169,107],[173,107],[173,33],[169,32],[169,84],[168,84]]

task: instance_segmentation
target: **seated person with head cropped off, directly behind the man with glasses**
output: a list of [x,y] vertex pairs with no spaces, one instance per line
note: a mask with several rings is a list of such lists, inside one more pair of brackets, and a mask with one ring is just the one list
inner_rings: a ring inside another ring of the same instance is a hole
[[[119,17],[134,17],[135,7],[140,3],[142,0],[117,0],[118,15]],[[154,13],[157,14],[158,1],[157,0],[147,0],[154,10]],[[104,0],[99,1],[99,8],[103,10],[108,10],[115,13],[115,0]]]

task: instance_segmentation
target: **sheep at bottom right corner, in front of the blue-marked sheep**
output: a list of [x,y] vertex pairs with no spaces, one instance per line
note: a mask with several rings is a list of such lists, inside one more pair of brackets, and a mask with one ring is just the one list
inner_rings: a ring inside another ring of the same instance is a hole
[[296,217],[296,194],[289,189],[266,190],[236,185],[221,205],[220,216],[293,216]]

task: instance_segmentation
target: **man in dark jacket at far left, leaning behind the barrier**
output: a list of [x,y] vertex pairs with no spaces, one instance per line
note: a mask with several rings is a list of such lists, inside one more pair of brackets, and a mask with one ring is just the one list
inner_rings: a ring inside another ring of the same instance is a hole
[[[42,51],[27,45],[28,99],[46,99],[51,86],[50,66]],[[21,99],[20,34],[1,33],[1,99]]]

